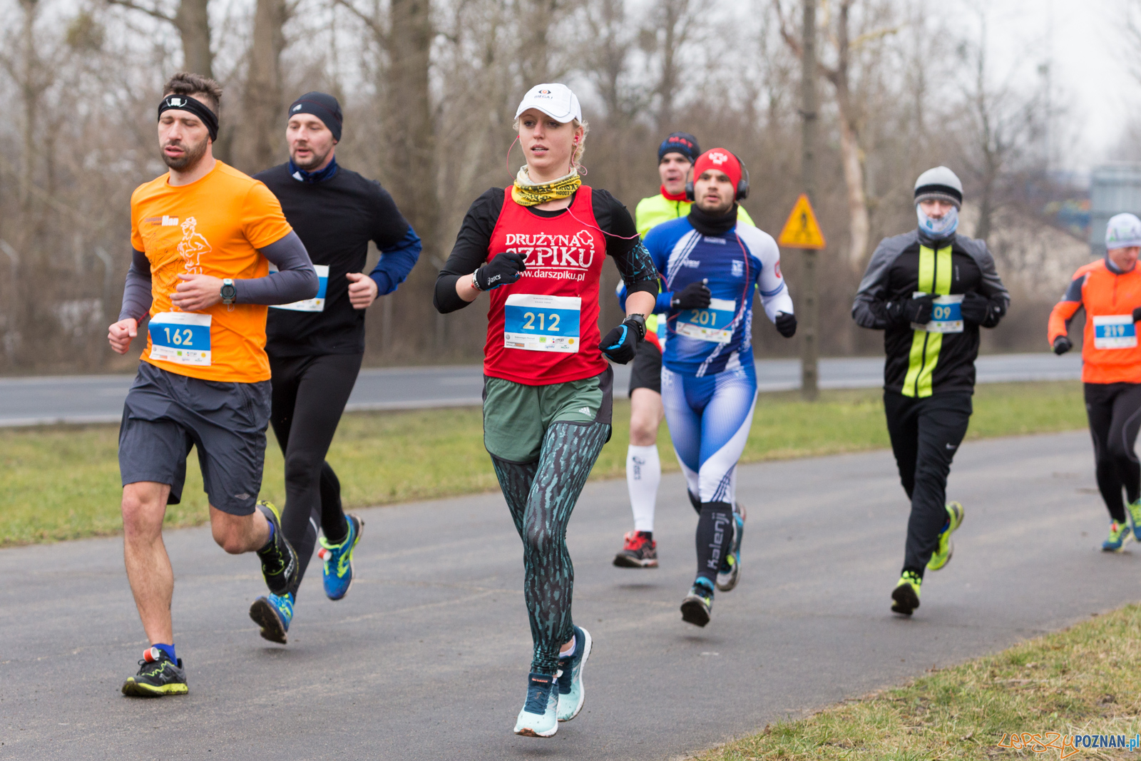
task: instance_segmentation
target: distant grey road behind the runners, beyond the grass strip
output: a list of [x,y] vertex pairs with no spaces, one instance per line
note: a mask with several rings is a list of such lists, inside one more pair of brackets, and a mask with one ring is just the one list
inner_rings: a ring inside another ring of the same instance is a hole
[[[800,362],[756,363],[762,391],[800,388]],[[615,365],[615,390],[626,392],[628,366]],[[979,382],[1068,380],[1081,377],[1082,358],[1043,354],[980,357]],[[56,422],[116,422],[133,375],[74,375],[0,379],[0,427]],[[851,357],[820,361],[823,388],[874,388],[883,382],[883,359]],[[349,410],[407,410],[479,404],[479,365],[364,370],[349,399]]]

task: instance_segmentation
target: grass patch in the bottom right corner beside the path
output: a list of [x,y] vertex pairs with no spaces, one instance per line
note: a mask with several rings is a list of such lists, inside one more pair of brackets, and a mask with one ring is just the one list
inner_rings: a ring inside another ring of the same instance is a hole
[[[695,761],[1123,759],[1085,736],[1134,738],[1141,606],[728,743]],[[1074,736],[1077,736],[1075,747]]]

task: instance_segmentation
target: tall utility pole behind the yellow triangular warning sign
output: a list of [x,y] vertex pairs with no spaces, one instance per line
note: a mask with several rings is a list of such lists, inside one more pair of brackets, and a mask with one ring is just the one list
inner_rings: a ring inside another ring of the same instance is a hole
[[[803,0],[803,39],[801,40],[801,184],[810,203],[816,201],[816,2]],[[802,249],[804,266],[801,272],[800,303],[800,394],[808,402],[819,395],[817,356],[819,354],[818,325],[820,307],[816,291],[816,256],[812,249]]]

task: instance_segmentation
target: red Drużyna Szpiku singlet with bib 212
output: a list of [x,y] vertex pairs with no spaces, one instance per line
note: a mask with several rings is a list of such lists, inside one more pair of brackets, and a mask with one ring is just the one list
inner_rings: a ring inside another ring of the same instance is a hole
[[[487,261],[504,251],[524,256],[517,282],[491,291],[484,374],[548,386],[593,378],[608,363],[598,349],[598,282],[606,236],[583,185],[570,213],[540,217],[503,191]],[[572,213],[574,216],[572,216]]]

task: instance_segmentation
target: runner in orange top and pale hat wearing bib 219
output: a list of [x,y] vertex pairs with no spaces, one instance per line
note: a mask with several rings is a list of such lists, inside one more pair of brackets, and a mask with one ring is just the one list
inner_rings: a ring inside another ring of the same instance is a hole
[[[1082,381],[1093,435],[1098,489],[1109,509],[1109,536],[1101,549],[1116,552],[1130,536],[1141,541],[1141,462],[1133,451],[1141,428],[1141,219],[1117,214],[1106,230],[1106,257],[1079,267],[1050,313],[1047,338],[1054,354],[1073,348],[1070,319],[1085,309]],[[1125,491],[1124,502],[1122,489]],[[1125,509],[1128,508],[1128,520]]]

